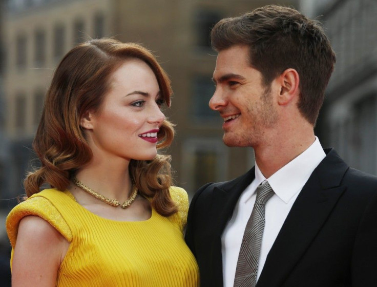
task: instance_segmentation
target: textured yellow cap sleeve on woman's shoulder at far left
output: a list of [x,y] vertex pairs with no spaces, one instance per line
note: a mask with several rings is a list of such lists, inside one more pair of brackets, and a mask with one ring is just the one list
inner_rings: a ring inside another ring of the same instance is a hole
[[13,247],[17,239],[19,222],[29,215],[44,219],[68,241],[72,240],[72,233],[67,222],[52,202],[52,198],[56,197],[56,193],[61,192],[55,189],[45,189],[20,202],[10,211],[6,220],[6,229]]

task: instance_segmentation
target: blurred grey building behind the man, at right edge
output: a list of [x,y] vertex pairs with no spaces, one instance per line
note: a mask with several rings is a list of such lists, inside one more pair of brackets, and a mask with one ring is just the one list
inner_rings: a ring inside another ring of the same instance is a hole
[[317,10],[337,54],[318,130],[354,168],[377,174],[377,1],[327,1]]

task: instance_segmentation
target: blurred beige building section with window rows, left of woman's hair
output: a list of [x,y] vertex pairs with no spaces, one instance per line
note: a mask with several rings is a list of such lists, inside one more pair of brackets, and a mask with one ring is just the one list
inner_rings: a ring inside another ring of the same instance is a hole
[[10,0],[6,8],[4,94],[10,175],[3,198],[13,198],[24,194],[22,180],[34,158],[31,143],[54,67],[88,35],[104,36],[112,6],[98,0]]

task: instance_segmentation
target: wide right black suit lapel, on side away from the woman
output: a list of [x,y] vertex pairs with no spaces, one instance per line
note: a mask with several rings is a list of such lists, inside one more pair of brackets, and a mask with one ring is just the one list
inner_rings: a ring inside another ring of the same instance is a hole
[[313,171],[266,258],[257,287],[282,286],[343,194],[349,168],[334,150]]

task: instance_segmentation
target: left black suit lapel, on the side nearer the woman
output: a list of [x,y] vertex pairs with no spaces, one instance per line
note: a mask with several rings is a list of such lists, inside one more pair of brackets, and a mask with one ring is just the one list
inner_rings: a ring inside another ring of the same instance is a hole
[[220,184],[214,188],[213,192],[213,212],[217,215],[217,222],[214,226],[214,242],[212,248],[212,278],[214,280],[213,286],[223,285],[222,274],[222,254],[221,254],[221,235],[224,231],[225,225],[232,217],[234,208],[243,190],[252,183],[255,178],[255,168],[250,169],[246,174]]

